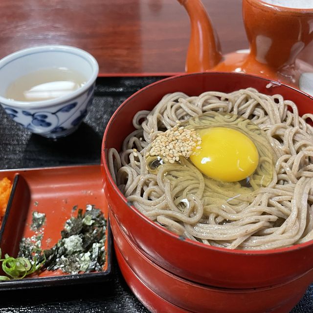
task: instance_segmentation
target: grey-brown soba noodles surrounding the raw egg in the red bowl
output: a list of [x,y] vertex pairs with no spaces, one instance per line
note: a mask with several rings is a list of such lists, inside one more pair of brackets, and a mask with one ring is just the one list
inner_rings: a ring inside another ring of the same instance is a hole
[[[276,161],[266,187],[251,191],[208,179],[186,160],[183,169],[164,164],[148,171],[145,155],[157,134],[211,111],[242,116],[264,131]],[[177,92],[134,116],[136,130],[122,151],[108,151],[109,168],[128,201],[181,236],[229,249],[290,246],[313,239],[313,128],[307,119],[313,115],[299,117],[292,101],[252,88],[200,96]]]

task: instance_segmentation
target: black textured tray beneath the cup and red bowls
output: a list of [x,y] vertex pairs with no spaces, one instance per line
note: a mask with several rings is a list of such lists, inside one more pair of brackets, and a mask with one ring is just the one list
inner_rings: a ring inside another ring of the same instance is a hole
[[[72,135],[57,141],[33,135],[0,110],[0,169],[100,164],[105,126],[130,95],[162,77],[99,77],[89,115]],[[292,265],[291,265],[292,266]],[[209,299],[208,299],[209,301]],[[109,281],[88,285],[1,290],[2,313],[148,313],[125,283],[113,256]],[[291,313],[313,312],[313,285]],[[260,312],[263,313],[263,312]]]

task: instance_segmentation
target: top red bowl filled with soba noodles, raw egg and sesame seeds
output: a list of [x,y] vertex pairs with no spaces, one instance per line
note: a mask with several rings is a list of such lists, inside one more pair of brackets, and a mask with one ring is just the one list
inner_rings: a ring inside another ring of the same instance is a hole
[[152,264],[196,284],[300,279],[313,268],[312,120],[311,96],[257,76],[192,73],[149,85],[105,130],[110,216]]

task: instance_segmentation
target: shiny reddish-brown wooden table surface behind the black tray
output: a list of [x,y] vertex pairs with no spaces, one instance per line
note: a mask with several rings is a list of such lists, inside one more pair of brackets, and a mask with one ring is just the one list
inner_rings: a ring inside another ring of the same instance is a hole
[[[223,53],[247,48],[241,0],[203,0]],[[189,19],[176,0],[1,0],[0,58],[46,44],[76,46],[100,73],[183,72]],[[302,58],[313,63],[310,45]]]

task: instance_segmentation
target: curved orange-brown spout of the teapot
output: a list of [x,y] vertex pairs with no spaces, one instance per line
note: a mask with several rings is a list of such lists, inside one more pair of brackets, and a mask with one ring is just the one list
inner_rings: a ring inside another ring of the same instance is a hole
[[186,72],[205,72],[222,59],[218,36],[201,0],[178,0],[186,9],[191,25]]

